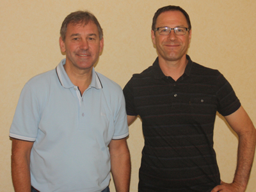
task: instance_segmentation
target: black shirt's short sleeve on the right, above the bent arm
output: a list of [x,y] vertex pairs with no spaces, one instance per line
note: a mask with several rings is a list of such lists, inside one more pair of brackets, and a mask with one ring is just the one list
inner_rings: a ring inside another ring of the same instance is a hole
[[234,113],[241,106],[231,84],[222,74],[217,77],[216,97],[218,100],[218,112],[223,116]]

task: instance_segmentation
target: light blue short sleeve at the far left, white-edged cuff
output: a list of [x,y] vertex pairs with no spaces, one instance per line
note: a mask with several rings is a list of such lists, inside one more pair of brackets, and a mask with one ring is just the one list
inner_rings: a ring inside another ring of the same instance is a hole
[[38,98],[29,84],[20,93],[10,128],[10,137],[25,141],[35,141],[40,121]]

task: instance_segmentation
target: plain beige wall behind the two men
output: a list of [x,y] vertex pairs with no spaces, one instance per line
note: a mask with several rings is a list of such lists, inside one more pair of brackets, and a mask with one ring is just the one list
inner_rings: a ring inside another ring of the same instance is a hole
[[[8,134],[19,94],[28,79],[55,68],[61,22],[70,12],[90,10],[104,29],[104,51],[96,67],[120,86],[152,65],[156,49],[150,39],[157,8],[179,5],[191,17],[193,61],[220,70],[232,84],[256,124],[256,3],[255,0],[1,0],[0,1],[0,191],[13,191],[10,174],[11,144]],[[221,179],[231,182],[236,167],[237,137],[217,116],[214,148]],[[130,127],[131,191],[137,191],[143,136],[141,122]],[[255,160],[256,161],[256,160]],[[256,165],[246,191],[255,191]],[[111,181],[111,189],[113,181]]]

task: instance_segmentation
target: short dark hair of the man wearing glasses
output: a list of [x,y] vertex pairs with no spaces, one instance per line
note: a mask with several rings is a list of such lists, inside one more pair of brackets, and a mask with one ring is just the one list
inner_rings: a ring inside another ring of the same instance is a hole
[[169,6],[164,6],[162,8],[159,8],[157,10],[157,12],[155,13],[154,17],[153,17],[153,22],[152,22],[152,30],[154,31],[154,29],[156,29],[156,20],[157,20],[157,17],[163,13],[163,12],[173,12],[173,11],[179,11],[179,12],[182,12],[183,15],[186,17],[186,20],[187,20],[187,23],[188,23],[188,29],[190,30],[191,29],[191,22],[190,22],[190,19],[189,19],[189,15],[188,13],[182,9],[180,6],[173,6],[173,5],[169,5]]

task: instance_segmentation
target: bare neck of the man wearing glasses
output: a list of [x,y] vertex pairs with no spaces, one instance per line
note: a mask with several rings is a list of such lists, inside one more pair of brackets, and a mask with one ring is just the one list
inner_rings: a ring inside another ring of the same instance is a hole
[[177,81],[184,74],[188,64],[186,55],[177,61],[166,61],[161,57],[158,58],[158,61],[163,74],[167,77],[172,77],[174,81]]

